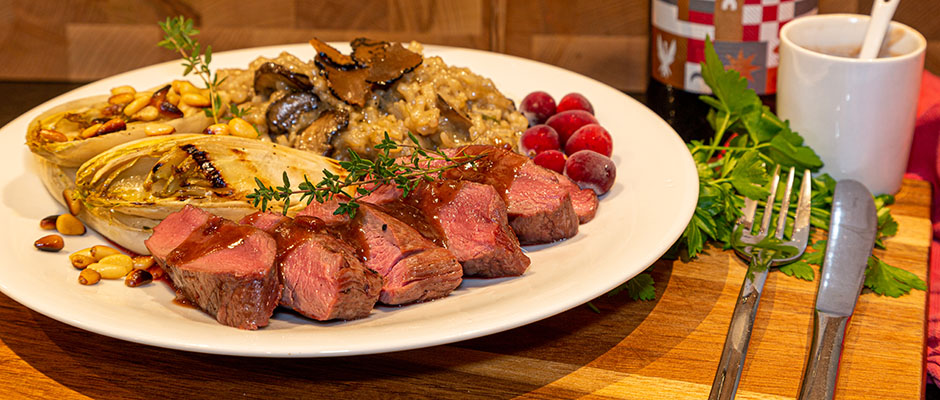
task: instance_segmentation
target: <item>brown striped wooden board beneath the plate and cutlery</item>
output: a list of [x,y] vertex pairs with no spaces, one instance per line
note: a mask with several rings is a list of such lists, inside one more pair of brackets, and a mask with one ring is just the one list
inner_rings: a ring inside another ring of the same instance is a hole
[[[905,181],[888,263],[926,280],[930,186]],[[253,359],[138,345],[93,334],[0,295],[4,398],[626,398],[707,397],[746,265],[710,249],[659,261],[656,301],[602,296],[511,331],[372,356]],[[816,282],[767,280],[738,399],[796,396]],[[845,340],[838,399],[912,399],[924,390],[927,295],[864,293]],[[382,338],[376,338],[382,340]],[[248,344],[246,344],[248,345]]]

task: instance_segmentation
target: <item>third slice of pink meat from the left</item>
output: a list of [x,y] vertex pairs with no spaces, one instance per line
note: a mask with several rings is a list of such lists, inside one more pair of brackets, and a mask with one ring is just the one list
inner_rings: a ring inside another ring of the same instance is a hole
[[[361,203],[355,218],[333,214],[339,200],[313,202],[298,216],[318,217],[341,236],[362,235],[365,266],[384,278],[379,301],[389,305],[447,296],[460,285],[463,269],[454,255],[435,245],[380,206]],[[355,232],[350,232],[355,231]]]

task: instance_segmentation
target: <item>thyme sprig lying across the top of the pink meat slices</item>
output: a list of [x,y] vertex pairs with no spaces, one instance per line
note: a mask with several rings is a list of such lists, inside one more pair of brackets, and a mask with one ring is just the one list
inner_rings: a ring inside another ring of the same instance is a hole
[[[324,203],[333,199],[334,196],[341,195],[348,200],[339,202],[339,207],[333,214],[346,214],[354,217],[356,210],[359,209],[358,200],[368,196],[382,185],[394,184],[402,190],[402,196],[408,196],[421,182],[440,179],[444,171],[467,165],[472,166],[483,157],[483,155],[468,154],[458,154],[452,157],[439,150],[421,147],[418,139],[411,133],[408,133],[408,139],[411,143],[398,144],[392,141],[386,133],[382,142],[375,146],[375,149],[379,150],[375,160],[362,158],[352,149],[347,149],[349,160],[339,163],[347,174],[341,176],[324,169],[323,179],[317,184],[310,182],[304,175],[304,181],[294,189],[287,172],[284,172],[281,186],[265,185],[260,179],[255,178],[258,187],[246,197],[251,199],[252,205],[260,208],[261,211],[268,209],[268,203],[283,202],[282,212],[286,215],[293,195],[299,194],[298,201],[306,202],[306,204],[314,200]],[[402,162],[392,156],[392,151],[398,149],[411,149],[407,162]],[[438,161],[443,161],[443,163],[438,165]]]

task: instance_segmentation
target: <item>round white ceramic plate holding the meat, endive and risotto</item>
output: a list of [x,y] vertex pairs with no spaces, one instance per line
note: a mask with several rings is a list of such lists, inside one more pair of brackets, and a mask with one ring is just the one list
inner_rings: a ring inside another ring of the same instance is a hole
[[[213,55],[213,67],[244,68],[258,56],[288,51],[313,57],[309,45],[273,46]],[[242,331],[172,302],[166,285],[127,288],[123,281],[77,283],[67,255],[103,243],[66,237],[65,249],[33,248],[48,234],[39,220],[64,209],[34,174],[24,143],[27,124],[65,101],[130,84],[149,88],[180,77],[178,61],[110,77],[40,105],[0,129],[0,290],[25,306],[82,329],[173,349],[260,357],[322,357],[380,353],[450,343],[504,331],[583,304],[642,272],[679,237],[694,211],[698,178],[676,133],[653,112],[595,80],[546,64],[477,50],[428,46],[449,65],[490,77],[518,102],[545,90],[556,99],[580,92],[614,138],[617,181],[597,217],[577,236],[527,248],[532,266],[521,277],[467,279],[450,296],[405,307],[380,307],[368,318],[319,323],[279,312],[271,325]]]

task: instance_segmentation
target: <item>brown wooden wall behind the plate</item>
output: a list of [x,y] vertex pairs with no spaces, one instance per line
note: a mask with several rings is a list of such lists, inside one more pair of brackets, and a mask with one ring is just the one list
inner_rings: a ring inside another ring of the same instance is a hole
[[[868,13],[871,0],[820,0]],[[639,92],[649,0],[0,0],[0,81],[91,81],[167,61],[157,21],[193,18],[216,51],[358,36],[502,51]],[[905,0],[896,20],[929,40],[940,72],[940,1]]]

